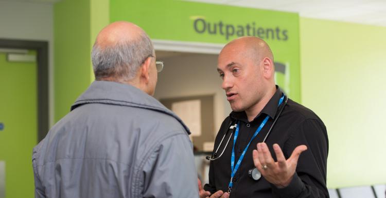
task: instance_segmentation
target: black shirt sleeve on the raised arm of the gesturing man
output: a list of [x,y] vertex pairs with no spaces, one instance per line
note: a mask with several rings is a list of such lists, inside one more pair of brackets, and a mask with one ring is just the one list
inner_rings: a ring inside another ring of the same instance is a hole
[[326,187],[328,137],[324,124],[317,119],[305,120],[284,146],[284,155],[291,156],[299,145],[306,145],[297,162],[291,183],[285,188],[272,186],[277,197],[329,197]]

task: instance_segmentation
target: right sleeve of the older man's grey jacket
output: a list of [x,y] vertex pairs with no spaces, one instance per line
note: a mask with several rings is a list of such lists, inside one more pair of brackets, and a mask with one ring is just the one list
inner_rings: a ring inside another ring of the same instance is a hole
[[192,144],[186,134],[163,140],[143,173],[143,197],[199,197]]

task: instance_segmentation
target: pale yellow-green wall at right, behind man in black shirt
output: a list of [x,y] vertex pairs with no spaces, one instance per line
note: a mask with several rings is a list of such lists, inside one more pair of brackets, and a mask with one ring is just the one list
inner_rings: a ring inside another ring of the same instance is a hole
[[386,27],[301,18],[302,102],[329,137],[328,187],[386,183]]

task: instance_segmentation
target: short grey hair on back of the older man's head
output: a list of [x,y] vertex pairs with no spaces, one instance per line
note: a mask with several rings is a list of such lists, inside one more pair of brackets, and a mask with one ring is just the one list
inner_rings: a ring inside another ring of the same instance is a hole
[[97,42],[91,53],[95,80],[112,77],[114,81],[132,80],[147,57],[154,55],[149,36],[143,32],[137,39],[101,48]]

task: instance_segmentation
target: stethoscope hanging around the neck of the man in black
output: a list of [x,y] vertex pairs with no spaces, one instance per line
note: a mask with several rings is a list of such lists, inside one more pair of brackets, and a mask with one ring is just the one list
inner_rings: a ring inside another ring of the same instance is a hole
[[[282,114],[283,112],[283,109],[284,107],[287,105],[287,101],[288,101],[288,97],[287,95],[284,95],[284,102],[282,104],[282,107],[280,108],[279,110],[279,113],[275,116],[274,120],[273,120],[273,123],[271,125],[271,127],[269,128],[268,130],[268,133],[266,134],[266,136],[264,137],[264,140],[262,142],[266,142],[269,134],[271,133],[272,131],[272,128],[275,126],[278,118],[280,117],[280,115]],[[222,154],[224,153],[225,149],[226,149],[226,146],[228,145],[229,141],[231,140],[231,137],[232,137],[232,134],[235,133],[235,130],[237,128],[237,124],[236,122],[231,122],[231,124],[229,125],[229,129],[226,130],[221,138],[221,141],[220,141],[220,144],[217,146],[217,149],[216,151],[213,153],[213,155],[211,157],[209,156],[206,156],[206,160],[209,160],[209,161],[215,161],[215,160],[218,160]],[[218,153],[218,150],[220,149],[221,145],[222,145],[222,142],[224,141],[224,138],[225,136],[231,132],[231,135],[229,136],[228,140],[226,141],[226,144],[225,144],[225,147],[222,149],[221,153],[219,156],[217,156],[217,153]],[[257,170],[256,167],[254,168],[251,168],[250,170],[248,170],[248,176],[250,176],[253,180],[259,180],[260,177],[261,177],[261,173]]]

